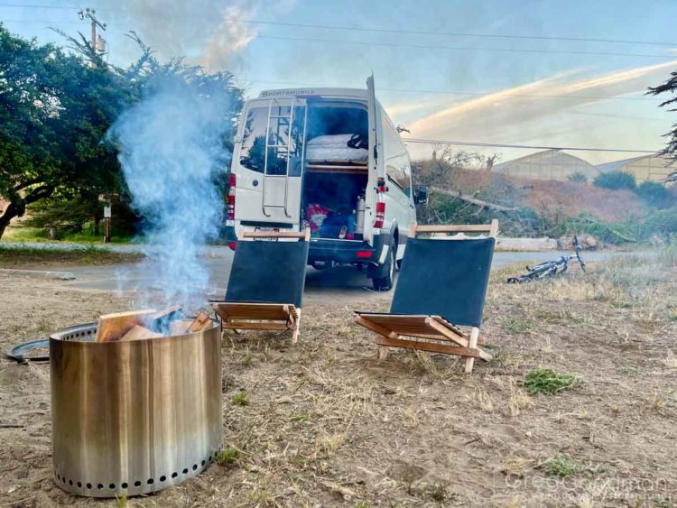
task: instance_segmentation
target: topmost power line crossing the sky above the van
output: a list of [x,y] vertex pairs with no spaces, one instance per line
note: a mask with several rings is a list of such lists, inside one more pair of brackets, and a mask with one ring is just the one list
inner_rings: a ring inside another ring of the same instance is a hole
[[[72,6],[64,5],[19,5],[19,4],[0,4],[0,7],[17,7],[24,9],[70,9]],[[411,35],[445,35],[452,37],[475,37],[481,39],[516,39],[525,41],[566,41],[566,42],[604,42],[612,44],[642,44],[649,46],[677,46],[677,42],[659,42],[659,41],[636,41],[631,39],[603,39],[590,37],[556,37],[545,35],[515,35],[515,34],[496,34],[496,33],[478,33],[478,32],[433,32],[425,30],[403,30],[394,28],[375,28],[363,26],[335,25],[323,23],[285,23],[272,22],[245,18],[228,18],[232,21],[249,24],[264,24],[270,26],[287,26],[292,28],[319,28],[322,30],[340,30],[350,32],[375,32],[375,33],[398,33]]]

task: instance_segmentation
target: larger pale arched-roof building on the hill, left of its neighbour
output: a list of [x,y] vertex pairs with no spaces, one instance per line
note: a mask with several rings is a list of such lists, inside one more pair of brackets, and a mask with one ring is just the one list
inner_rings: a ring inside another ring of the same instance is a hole
[[589,162],[561,150],[545,150],[513,161],[501,162],[493,170],[532,180],[567,180],[573,173],[582,173],[588,180],[594,180],[599,174],[598,168]]

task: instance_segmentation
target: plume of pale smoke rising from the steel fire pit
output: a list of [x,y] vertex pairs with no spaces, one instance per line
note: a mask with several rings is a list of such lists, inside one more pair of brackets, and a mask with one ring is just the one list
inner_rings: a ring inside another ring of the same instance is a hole
[[162,290],[163,303],[204,300],[209,270],[200,254],[222,221],[215,180],[227,170],[230,128],[225,98],[179,78],[156,83],[112,127],[132,206],[144,218],[144,280]]

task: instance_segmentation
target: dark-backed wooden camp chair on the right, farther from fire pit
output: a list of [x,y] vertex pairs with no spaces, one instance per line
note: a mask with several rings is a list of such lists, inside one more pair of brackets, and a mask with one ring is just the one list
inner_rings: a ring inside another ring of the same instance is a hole
[[[431,238],[416,237],[422,233]],[[463,235],[438,237],[449,233]],[[375,339],[379,360],[388,347],[465,356],[467,373],[475,358],[491,360],[478,346],[485,344],[479,325],[497,234],[497,220],[490,225],[412,226],[390,313],[356,312],[357,323],[380,336]],[[471,327],[469,337],[459,326]]]

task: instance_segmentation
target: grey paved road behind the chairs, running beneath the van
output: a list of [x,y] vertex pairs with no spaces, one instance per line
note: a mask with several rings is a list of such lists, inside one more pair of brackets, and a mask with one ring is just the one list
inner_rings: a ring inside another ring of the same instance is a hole
[[[2,246],[10,246],[3,244]],[[74,249],[79,245],[64,244],[20,244],[34,248],[61,248]],[[107,245],[107,248],[116,252],[139,252],[139,245]],[[557,259],[564,253],[533,252],[533,253],[496,253],[492,268],[509,263],[537,263]],[[610,253],[586,253],[585,259],[597,261],[609,256]],[[227,247],[207,246],[203,254],[204,263],[211,274],[209,296],[223,298],[226,292],[228,273],[233,261],[233,253]],[[44,270],[59,270],[59,266],[48,266]],[[64,285],[81,290],[130,291],[135,289],[152,289],[153,274],[144,270],[142,263],[119,264],[115,266],[83,266],[68,267],[68,272],[75,274],[76,280],[61,282]],[[308,268],[306,279],[306,300],[317,302],[350,302],[361,300],[389,300],[390,293],[371,291],[371,282],[366,278],[366,272],[357,272],[352,266],[338,266],[336,268],[317,271]]]

